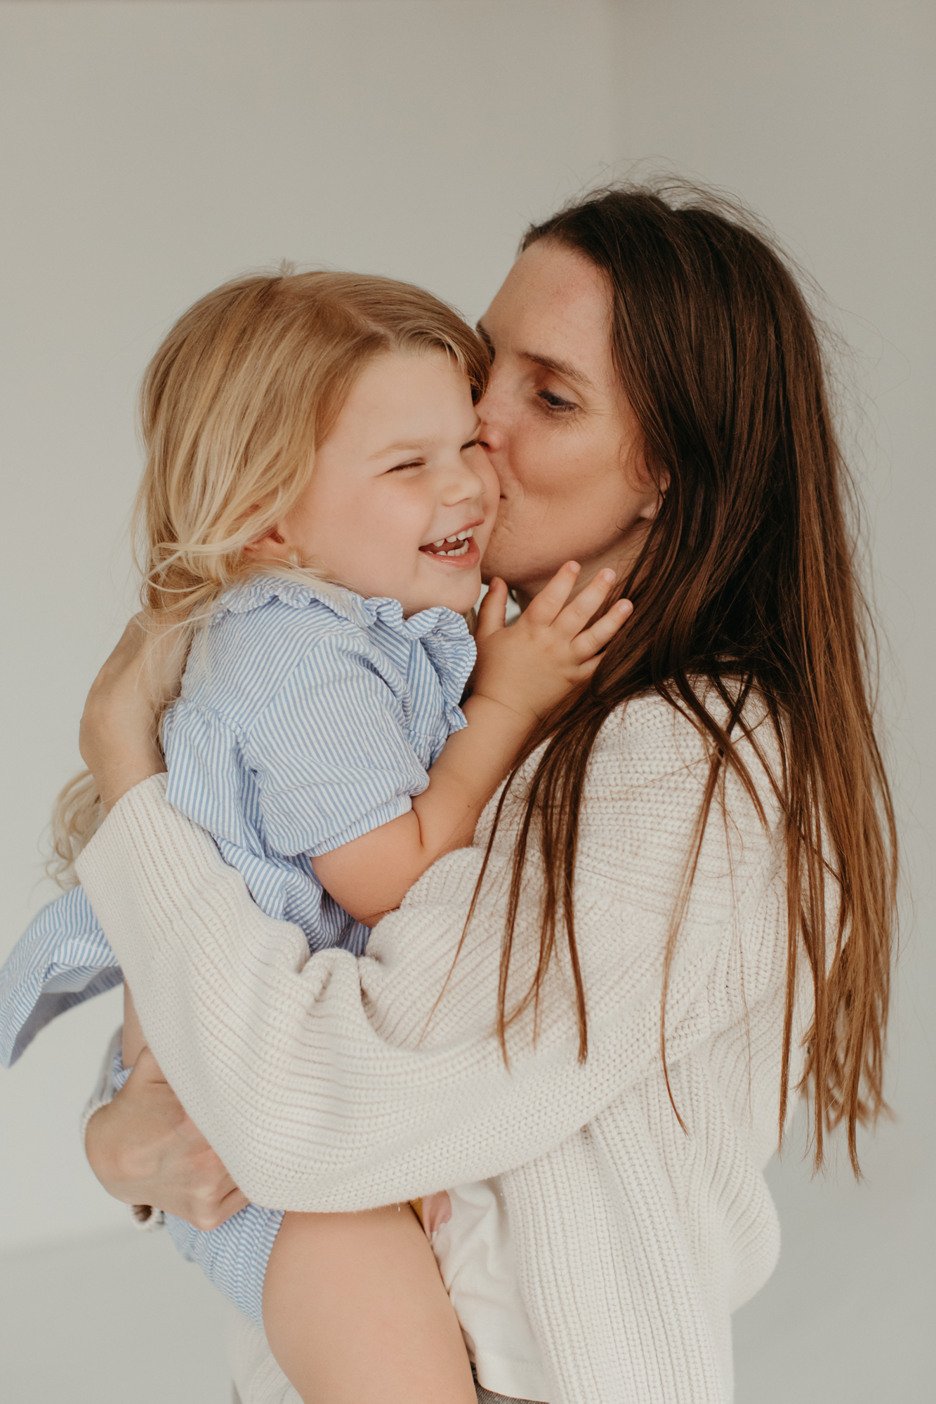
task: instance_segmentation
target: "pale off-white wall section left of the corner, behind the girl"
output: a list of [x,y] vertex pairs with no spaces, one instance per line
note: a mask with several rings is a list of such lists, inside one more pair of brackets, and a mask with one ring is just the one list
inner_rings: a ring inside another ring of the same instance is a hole
[[[174,317],[282,257],[478,316],[517,237],[609,160],[607,13],[493,3],[0,4],[6,549],[0,955],[132,602],[136,386]],[[76,1118],[119,995],[0,1075],[0,1248],[124,1221]]]

